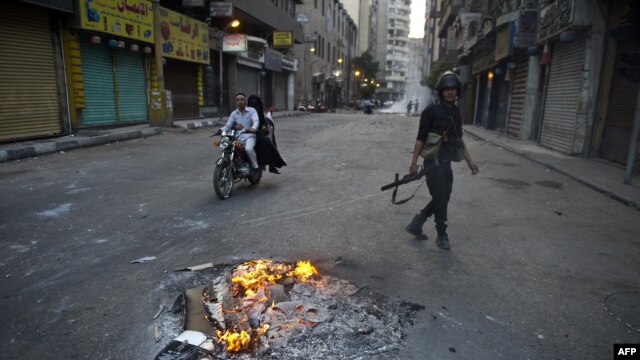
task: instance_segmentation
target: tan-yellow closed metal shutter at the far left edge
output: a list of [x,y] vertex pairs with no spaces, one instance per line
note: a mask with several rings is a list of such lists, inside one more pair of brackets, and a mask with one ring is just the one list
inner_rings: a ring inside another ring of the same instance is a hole
[[0,4],[0,141],[62,132],[45,10]]

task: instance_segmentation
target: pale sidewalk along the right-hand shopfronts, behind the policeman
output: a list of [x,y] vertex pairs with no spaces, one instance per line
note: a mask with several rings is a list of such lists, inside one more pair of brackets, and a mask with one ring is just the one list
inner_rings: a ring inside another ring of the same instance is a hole
[[585,159],[561,154],[533,141],[516,140],[497,131],[467,125],[464,131],[495,146],[518,154],[566,175],[616,201],[640,210],[640,177],[624,183],[624,167],[602,159]]

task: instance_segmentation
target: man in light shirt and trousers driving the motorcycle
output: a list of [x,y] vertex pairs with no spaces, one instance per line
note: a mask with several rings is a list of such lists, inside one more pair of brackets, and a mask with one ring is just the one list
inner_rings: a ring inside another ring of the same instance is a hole
[[244,145],[244,151],[247,153],[249,161],[251,162],[252,174],[255,175],[259,170],[255,146],[256,132],[258,131],[260,119],[256,109],[247,106],[247,95],[239,92],[236,94],[235,99],[236,106],[238,108],[231,112],[227,123],[220,129],[220,131],[247,129],[248,132],[240,134],[238,140],[240,140]]

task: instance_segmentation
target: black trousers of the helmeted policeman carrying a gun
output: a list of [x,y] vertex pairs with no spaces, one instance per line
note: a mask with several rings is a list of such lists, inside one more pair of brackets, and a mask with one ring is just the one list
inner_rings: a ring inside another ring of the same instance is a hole
[[431,169],[427,174],[427,187],[429,194],[431,194],[431,201],[420,211],[420,214],[425,219],[435,215],[438,235],[445,235],[447,233],[447,207],[453,188],[451,161],[440,160],[436,165],[435,160],[425,160],[424,168]]

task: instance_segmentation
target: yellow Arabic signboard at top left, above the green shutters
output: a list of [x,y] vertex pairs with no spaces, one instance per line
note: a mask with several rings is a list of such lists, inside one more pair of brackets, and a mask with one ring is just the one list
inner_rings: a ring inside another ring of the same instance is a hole
[[80,27],[153,43],[153,7],[147,0],[79,1]]

